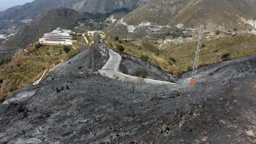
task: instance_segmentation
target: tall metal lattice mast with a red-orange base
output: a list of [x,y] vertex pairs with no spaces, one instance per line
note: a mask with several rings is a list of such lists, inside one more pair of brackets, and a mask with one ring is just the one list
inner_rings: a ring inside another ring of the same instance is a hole
[[198,67],[198,60],[199,60],[199,54],[200,54],[200,47],[202,44],[202,38],[203,38],[203,29],[204,25],[202,24],[200,26],[200,32],[199,32],[199,38],[198,38],[198,45],[195,53],[195,61],[194,61],[194,67],[193,67],[193,72],[192,72],[192,78],[190,80],[190,84],[192,86],[195,86],[196,83],[196,72],[197,72],[197,67]]

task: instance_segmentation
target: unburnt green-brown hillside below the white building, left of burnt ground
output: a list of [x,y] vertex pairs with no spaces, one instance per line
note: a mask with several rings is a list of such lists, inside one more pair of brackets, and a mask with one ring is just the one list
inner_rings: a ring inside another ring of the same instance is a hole
[[[63,46],[27,47],[24,54],[17,55],[0,69],[0,102],[38,80],[42,73],[52,65],[67,60],[86,49],[85,40],[81,37],[70,48],[68,54],[62,53]],[[0,60],[2,61],[2,60]],[[4,60],[6,62],[6,60]],[[48,74],[48,73],[47,73]]]

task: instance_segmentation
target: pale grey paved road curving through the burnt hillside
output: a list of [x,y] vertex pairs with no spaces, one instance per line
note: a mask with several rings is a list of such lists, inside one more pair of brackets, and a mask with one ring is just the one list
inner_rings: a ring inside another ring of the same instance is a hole
[[[104,38],[102,35],[101,38]],[[118,66],[121,62],[121,56],[113,51],[112,49],[109,49],[109,61],[102,67],[101,70],[99,70],[101,75],[107,76],[109,78],[117,78],[123,81],[135,81],[135,82],[143,82],[143,83],[152,83],[152,84],[175,84],[170,83],[168,81],[159,81],[154,79],[142,79],[139,77],[130,76],[127,74],[123,74],[118,71]]]

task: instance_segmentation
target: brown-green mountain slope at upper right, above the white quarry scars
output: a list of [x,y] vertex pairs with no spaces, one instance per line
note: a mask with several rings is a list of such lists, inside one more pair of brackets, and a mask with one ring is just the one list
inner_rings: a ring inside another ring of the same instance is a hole
[[230,28],[237,24],[237,15],[253,18],[255,14],[251,4],[239,0],[154,0],[129,13],[124,22],[171,26],[183,23],[185,27],[215,23]]

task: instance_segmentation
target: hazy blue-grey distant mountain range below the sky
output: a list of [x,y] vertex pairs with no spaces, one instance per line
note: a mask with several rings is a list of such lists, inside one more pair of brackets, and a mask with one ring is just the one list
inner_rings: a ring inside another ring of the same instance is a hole
[[133,10],[151,0],[35,0],[0,12],[0,20],[35,18],[49,8],[67,7],[78,12],[109,13],[115,9]]

